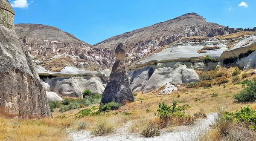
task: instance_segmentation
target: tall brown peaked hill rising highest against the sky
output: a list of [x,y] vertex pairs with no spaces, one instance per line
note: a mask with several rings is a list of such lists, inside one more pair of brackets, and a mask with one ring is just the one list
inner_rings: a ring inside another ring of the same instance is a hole
[[182,37],[213,37],[233,32],[238,32],[238,30],[230,31],[229,28],[217,23],[207,22],[204,17],[196,13],[188,13],[162,23],[111,37],[94,46],[113,49],[118,43],[123,43],[128,52],[126,55],[128,59],[125,63],[131,64],[161,46],[169,45]]

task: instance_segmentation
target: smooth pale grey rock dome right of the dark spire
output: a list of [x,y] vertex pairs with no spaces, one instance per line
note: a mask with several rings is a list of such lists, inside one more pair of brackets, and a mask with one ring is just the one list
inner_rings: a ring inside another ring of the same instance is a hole
[[152,76],[149,78],[143,93],[151,92],[152,90],[172,82],[175,84],[199,82],[199,76],[194,69],[188,69],[186,65],[180,65],[177,68],[163,67],[155,69]]

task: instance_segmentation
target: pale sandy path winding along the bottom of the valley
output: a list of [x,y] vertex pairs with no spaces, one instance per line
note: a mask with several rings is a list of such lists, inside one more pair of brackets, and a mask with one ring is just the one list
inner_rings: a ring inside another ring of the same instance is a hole
[[198,120],[192,126],[175,127],[174,132],[162,132],[154,138],[142,138],[140,134],[129,133],[127,130],[131,122],[118,129],[115,134],[104,137],[93,137],[90,131],[71,132],[70,136],[72,141],[196,141],[200,134],[209,130],[209,125],[216,117],[216,113],[211,113],[206,119]]

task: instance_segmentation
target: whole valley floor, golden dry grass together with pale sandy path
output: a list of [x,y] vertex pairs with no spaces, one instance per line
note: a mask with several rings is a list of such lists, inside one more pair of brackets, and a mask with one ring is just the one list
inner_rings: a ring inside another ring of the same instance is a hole
[[[245,86],[241,84],[234,85],[234,77],[231,76],[234,68],[222,69],[230,74],[227,78],[228,82],[224,84],[212,84],[208,88],[196,87],[187,88],[187,86],[179,86],[178,90],[167,95],[158,95],[161,89],[152,92],[135,94],[135,102],[126,104],[118,110],[102,113],[96,116],[84,116],[76,118],[76,113],[81,109],[74,109],[67,112],[53,112],[53,119],[42,119],[39,121],[32,120],[6,120],[0,118],[0,140],[7,141],[153,141],[153,140],[182,140],[194,141],[198,136],[206,134],[210,129],[209,124],[214,122],[216,113],[219,109],[224,111],[235,112],[241,107],[248,104],[239,104],[234,101],[233,95],[241,92]],[[243,73],[248,73],[247,78],[242,78]],[[204,72],[198,72],[199,75]],[[254,69],[241,71],[239,80],[256,78]],[[213,96],[217,94],[217,96]],[[158,104],[165,103],[172,105],[173,101],[177,101],[178,106],[189,104],[190,108],[185,109],[186,115],[193,116],[195,113],[204,112],[207,118],[199,118],[195,124],[188,126],[177,126],[173,123],[166,128],[160,130],[160,136],[154,138],[142,138],[141,132],[148,126],[150,122],[159,121],[157,113]],[[85,108],[91,109],[90,105]],[[250,103],[250,108],[256,109],[255,103]],[[58,111],[58,109],[55,109]],[[96,112],[97,109],[93,110]],[[113,132],[105,136],[93,136],[93,132],[99,125],[113,127]],[[214,139],[213,139],[214,140]]]

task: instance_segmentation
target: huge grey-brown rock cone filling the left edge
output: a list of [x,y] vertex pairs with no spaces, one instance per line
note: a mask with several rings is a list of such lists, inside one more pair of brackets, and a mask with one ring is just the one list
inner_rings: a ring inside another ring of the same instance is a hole
[[0,115],[52,117],[38,73],[16,35],[8,0],[0,0],[0,15]]

